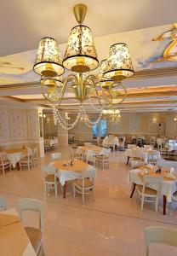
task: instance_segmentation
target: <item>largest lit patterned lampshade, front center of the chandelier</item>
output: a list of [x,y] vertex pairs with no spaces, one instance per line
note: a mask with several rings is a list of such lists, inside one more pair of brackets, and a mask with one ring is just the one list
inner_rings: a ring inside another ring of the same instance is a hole
[[71,29],[63,66],[77,73],[89,72],[99,66],[94,40],[88,26],[78,25]]

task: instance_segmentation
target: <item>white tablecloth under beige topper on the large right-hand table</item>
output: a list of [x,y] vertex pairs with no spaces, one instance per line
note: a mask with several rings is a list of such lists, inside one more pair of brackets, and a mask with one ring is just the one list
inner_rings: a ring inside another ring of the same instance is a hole
[[[134,169],[129,171],[129,182],[130,183],[136,183],[139,185],[143,185],[142,179],[138,175],[139,172],[142,172],[140,169]],[[151,186],[148,186],[151,189],[157,189],[157,185],[153,184]],[[163,181],[162,188],[161,188],[161,194],[167,196],[167,201],[171,202],[172,195],[177,190],[177,183],[175,180],[171,181]]]

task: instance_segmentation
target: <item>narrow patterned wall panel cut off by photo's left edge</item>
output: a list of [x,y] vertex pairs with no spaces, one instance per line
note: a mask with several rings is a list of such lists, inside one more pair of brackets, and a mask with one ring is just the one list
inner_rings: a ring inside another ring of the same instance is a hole
[[0,109],[0,142],[8,141],[9,131],[9,116],[7,109]]

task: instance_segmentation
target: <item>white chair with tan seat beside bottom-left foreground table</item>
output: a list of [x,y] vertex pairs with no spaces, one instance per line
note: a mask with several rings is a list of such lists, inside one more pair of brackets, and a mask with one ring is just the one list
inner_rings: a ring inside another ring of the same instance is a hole
[[25,227],[26,234],[37,255],[44,255],[43,251],[43,202],[37,199],[22,198],[18,200],[20,219],[23,222],[23,212],[32,211],[39,214],[39,227]]

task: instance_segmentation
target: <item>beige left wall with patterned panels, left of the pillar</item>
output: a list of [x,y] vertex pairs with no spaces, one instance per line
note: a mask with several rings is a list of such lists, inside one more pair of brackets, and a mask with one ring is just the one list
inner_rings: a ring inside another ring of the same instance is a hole
[[0,147],[38,143],[38,112],[31,109],[0,108]]

